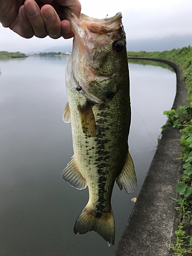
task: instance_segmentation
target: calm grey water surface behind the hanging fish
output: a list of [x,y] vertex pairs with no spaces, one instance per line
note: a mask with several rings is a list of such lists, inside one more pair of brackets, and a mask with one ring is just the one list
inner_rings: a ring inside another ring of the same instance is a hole
[[115,246],[93,231],[76,236],[73,226],[88,189],[61,179],[73,155],[71,125],[62,121],[66,63],[67,58],[39,57],[0,61],[1,256],[113,255],[155,153],[163,111],[172,107],[175,73],[131,64],[129,144],[138,189],[126,195],[115,184]]

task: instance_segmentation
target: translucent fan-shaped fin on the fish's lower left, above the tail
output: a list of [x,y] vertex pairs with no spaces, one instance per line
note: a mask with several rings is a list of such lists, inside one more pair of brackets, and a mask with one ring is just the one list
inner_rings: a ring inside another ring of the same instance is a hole
[[68,163],[65,170],[63,170],[62,179],[78,189],[84,189],[87,187],[87,181],[80,174],[74,156]]

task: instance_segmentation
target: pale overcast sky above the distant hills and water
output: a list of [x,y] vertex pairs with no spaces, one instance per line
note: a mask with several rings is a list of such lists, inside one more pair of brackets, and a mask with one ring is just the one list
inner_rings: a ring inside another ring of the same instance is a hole
[[[81,12],[95,18],[104,18],[122,12],[127,48],[131,51],[136,42],[163,42],[162,38],[188,38],[183,44],[192,46],[192,0],[81,0]],[[160,44],[160,43],[159,43]],[[71,49],[72,40],[63,38],[25,39],[0,25],[0,51],[39,52],[51,47]],[[185,46],[185,45],[183,45]],[[168,46],[167,46],[168,47]],[[177,41],[173,48],[180,47]],[[166,48],[166,45],[163,46]],[[145,50],[145,49],[143,49]],[[148,50],[148,49],[147,49]],[[153,49],[152,49],[153,50]],[[163,49],[163,50],[169,50]]]

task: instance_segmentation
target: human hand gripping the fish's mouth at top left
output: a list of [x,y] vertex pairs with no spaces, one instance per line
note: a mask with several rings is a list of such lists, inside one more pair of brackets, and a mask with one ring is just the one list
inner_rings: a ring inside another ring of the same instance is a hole
[[81,5],[78,0],[0,0],[0,22],[25,38],[33,35],[71,38],[70,22],[59,18],[62,6],[79,17]]

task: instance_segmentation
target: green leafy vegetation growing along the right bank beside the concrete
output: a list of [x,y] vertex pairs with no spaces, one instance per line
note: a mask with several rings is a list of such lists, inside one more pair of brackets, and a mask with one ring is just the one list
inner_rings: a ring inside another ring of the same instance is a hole
[[[181,159],[184,162],[184,172],[177,186],[179,199],[175,199],[179,205],[176,210],[180,217],[180,224],[175,231],[177,241],[171,248],[174,250],[174,256],[189,256],[192,255],[192,236],[186,236],[185,223],[188,218],[191,219],[192,207],[192,47],[163,52],[128,52],[127,56],[170,60],[177,63],[183,71],[183,80],[187,88],[186,106],[165,111],[164,114],[168,117],[166,124],[181,129]],[[190,224],[192,225],[192,220]]]

